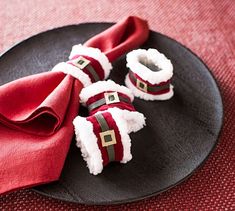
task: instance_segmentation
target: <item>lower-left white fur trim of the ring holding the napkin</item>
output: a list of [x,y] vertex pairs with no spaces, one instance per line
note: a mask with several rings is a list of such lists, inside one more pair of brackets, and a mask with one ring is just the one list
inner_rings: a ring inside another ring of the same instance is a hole
[[91,79],[86,73],[84,73],[78,67],[74,67],[73,65],[68,64],[66,62],[58,63],[55,67],[52,68],[51,71],[60,71],[65,74],[69,74],[81,81],[84,87],[87,87],[92,84]]

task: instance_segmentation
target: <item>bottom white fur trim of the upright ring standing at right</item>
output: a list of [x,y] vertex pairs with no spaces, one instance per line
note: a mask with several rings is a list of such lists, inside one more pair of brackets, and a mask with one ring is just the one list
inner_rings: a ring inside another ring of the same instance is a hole
[[129,78],[129,74],[126,75],[125,84],[132,91],[134,96],[139,97],[139,98],[144,99],[144,100],[149,100],[149,101],[153,101],[153,100],[168,100],[168,99],[170,99],[174,95],[174,91],[173,91],[174,87],[172,85],[170,85],[170,91],[165,93],[165,94],[152,95],[152,94],[143,92],[143,91],[137,89],[132,84],[132,82],[130,81],[130,78]]

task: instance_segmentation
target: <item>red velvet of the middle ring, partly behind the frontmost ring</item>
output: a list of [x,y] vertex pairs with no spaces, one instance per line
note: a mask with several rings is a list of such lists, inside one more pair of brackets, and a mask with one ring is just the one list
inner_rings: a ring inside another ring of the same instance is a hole
[[[110,93],[110,92],[113,92],[113,91],[106,91],[106,93]],[[86,102],[86,105],[89,106],[92,103],[97,102],[98,100],[104,99],[105,98],[104,97],[104,93],[105,92],[99,93],[99,94],[97,94],[95,96],[90,97],[88,99],[88,101]],[[118,94],[119,97],[123,97],[123,98],[128,99],[129,102],[124,102],[124,101],[120,100],[120,102],[117,102],[117,103],[104,104],[104,105],[101,105],[100,107],[97,107],[95,109],[90,110],[89,114],[93,115],[93,114],[97,113],[98,111],[105,111],[105,110],[107,110],[109,108],[114,108],[114,107],[115,108],[120,108],[121,110],[125,109],[125,110],[129,110],[129,111],[135,111],[135,108],[134,108],[134,106],[131,103],[131,99],[127,95],[125,95],[123,93],[120,93],[120,92],[117,92],[117,94]]]

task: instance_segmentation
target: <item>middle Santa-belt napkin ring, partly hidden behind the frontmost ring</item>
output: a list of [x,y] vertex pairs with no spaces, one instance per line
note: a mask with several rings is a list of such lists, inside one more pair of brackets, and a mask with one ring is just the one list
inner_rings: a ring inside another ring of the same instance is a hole
[[111,80],[93,83],[80,93],[80,102],[88,108],[90,115],[113,107],[135,111],[133,100],[130,89]]

